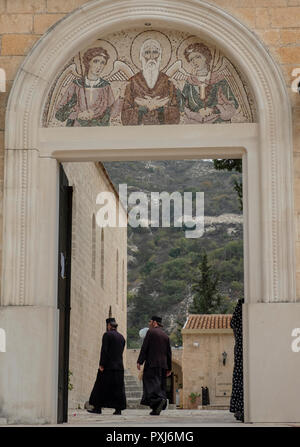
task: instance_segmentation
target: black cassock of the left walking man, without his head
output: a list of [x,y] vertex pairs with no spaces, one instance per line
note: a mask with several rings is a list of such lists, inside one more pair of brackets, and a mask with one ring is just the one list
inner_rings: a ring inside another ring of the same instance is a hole
[[126,408],[126,395],[124,383],[123,351],[125,339],[116,330],[105,332],[102,338],[102,347],[97,378],[91,396],[90,405],[94,408]]

